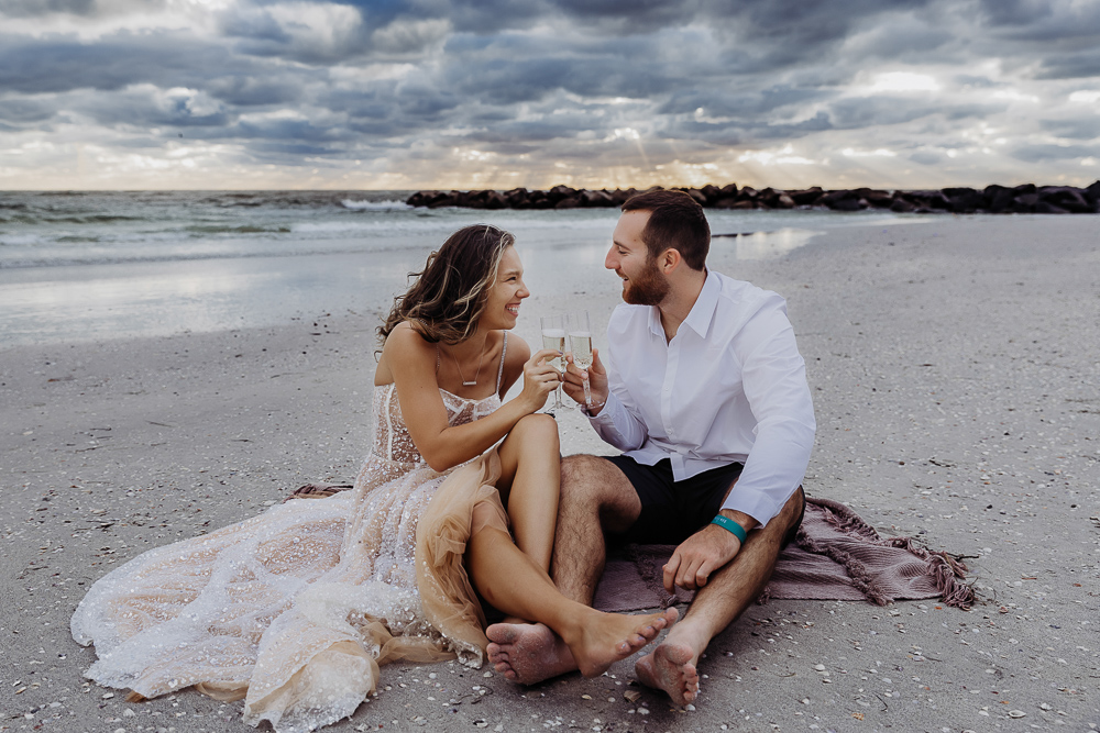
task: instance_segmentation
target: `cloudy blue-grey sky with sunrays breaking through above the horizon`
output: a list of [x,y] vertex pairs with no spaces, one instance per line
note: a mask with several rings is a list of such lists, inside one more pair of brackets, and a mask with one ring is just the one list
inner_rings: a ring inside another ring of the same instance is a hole
[[0,0],[0,189],[1098,178],[1097,0]]

